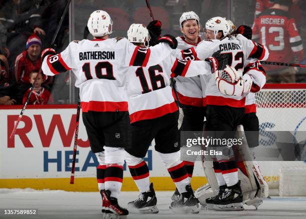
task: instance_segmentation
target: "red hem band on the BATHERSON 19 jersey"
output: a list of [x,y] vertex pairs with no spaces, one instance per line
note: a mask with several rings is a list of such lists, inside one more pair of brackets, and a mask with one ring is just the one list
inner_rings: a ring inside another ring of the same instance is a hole
[[89,101],[89,102],[81,102],[82,112],[88,111],[128,111],[127,102],[111,102],[111,101]]

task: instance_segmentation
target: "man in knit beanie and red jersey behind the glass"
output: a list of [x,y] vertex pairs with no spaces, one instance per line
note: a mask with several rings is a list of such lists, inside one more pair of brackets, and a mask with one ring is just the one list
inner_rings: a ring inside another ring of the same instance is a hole
[[[41,66],[40,52],[41,41],[36,34],[32,34],[26,41],[26,50],[17,55],[14,63],[14,74],[18,84],[21,84],[21,91],[31,86],[29,73],[39,69]],[[43,75],[44,84],[52,82],[52,77]]]

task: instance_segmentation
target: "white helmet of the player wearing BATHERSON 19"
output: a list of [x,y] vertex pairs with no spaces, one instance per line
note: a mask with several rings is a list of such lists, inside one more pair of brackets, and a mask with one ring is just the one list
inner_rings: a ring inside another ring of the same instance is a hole
[[112,33],[112,20],[106,11],[95,10],[89,16],[87,27],[91,35],[104,36]]

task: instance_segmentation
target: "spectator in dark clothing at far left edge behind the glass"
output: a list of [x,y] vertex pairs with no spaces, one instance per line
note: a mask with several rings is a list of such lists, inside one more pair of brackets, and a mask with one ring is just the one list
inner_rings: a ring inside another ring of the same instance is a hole
[[21,104],[18,85],[9,78],[7,59],[0,55],[0,105]]

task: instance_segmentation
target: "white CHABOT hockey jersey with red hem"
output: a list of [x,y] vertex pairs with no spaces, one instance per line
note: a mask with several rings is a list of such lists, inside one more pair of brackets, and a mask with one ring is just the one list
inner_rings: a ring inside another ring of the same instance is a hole
[[[210,74],[205,90],[206,101],[209,105],[228,105],[232,107],[244,107],[245,96],[230,96],[222,94],[215,83],[215,75],[211,74],[211,68],[207,61],[202,61],[211,56],[215,51],[230,53],[231,66],[237,70],[242,70],[246,66],[247,58],[265,60],[268,57],[268,50],[258,44],[238,34],[236,37],[225,37],[223,40],[203,40],[196,49],[197,57],[201,60],[195,61],[175,61],[171,71],[175,75],[195,76],[198,74]],[[199,69],[201,70],[199,72]],[[256,80],[256,78],[254,78]],[[259,83],[259,82],[258,82]],[[256,83],[257,84],[257,83]]]

